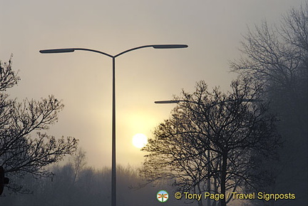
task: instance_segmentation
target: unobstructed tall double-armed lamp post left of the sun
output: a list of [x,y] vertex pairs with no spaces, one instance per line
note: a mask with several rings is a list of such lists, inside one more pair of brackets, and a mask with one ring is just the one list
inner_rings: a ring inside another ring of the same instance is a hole
[[116,58],[129,51],[134,51],[139,48],[152,47],[152,48],[187,48],[185,44],[154,44],[138,46],[122,51],[115,56],[105,53],[103,51],[97,51],[88,48],[56,48],[56,49],[45,49],[39,51],[40,53],[68,53],[77,50],[91,51],[95,53],[101,53],[105,56],[111,57],[113,60],[113,104],[112,104],[112,160],[111,160],[111,205],[116,206]]

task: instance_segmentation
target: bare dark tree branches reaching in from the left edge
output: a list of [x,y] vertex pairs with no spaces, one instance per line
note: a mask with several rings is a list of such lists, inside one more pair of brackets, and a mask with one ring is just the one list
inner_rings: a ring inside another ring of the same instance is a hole
[[[56,123],[63,103],[53,96],[41,101],[26,99],[22,103],[11,100],[4,91],[18,81],[11,60],[0,63],[0,165],[9,177],[23,177],[26,173],[46,177],[51,173],[45,167],[73,153],[78,140],[40,133],[39,130],[47,130]],[[35,130],[38,132],[33,135]],[[11,181],[7,187],[21,192],[22,186]]]

